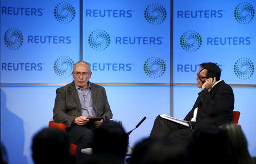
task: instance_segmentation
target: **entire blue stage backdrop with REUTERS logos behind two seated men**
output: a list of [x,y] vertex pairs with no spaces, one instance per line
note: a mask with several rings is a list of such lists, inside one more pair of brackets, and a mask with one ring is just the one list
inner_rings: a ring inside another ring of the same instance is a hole
[[183,119],[200,92],[199,64],[218,63],[256,156],[255,1],[0,2],[1,141],[9,163],[33,163],[31,139],[52,120],[55,90],[72,81],[80,59],[91,64],[90,80],[104,84],[126,131],[147,116],[130,146],[149,135],[158,114]]

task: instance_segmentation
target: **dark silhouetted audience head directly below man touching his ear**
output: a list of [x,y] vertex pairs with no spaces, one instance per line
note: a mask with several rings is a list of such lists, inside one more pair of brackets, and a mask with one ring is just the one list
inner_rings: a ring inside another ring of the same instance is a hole
[[191,162],[201,163],[228,163],[228,139],[220,128],[207,124],[197,128],[191,144],[188,146]]

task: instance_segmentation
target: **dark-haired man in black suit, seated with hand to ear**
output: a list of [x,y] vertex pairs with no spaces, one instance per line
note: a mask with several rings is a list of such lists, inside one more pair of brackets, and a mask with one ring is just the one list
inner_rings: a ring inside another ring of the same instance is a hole
[[234,93],[232,88],[220,80],[221,70],[214,63],[202,63],[197,72],[197,87],[201,88],[197,100],[184,120],[189,127],[158,116],[151,130],[151,138],[179,140],[184,146],[191,141],[193,131],[211,123],[220,126],[232,120]]

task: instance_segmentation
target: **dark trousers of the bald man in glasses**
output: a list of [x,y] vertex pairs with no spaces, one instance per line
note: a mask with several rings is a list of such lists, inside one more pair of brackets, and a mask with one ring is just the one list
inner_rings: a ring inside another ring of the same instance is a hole
[[69,139],[71,143],[77,145],[76,150],[76,163],[85,163],[85,161],[90,157],[90,154],[81,153],[81,149],[92,148],[93,133],[96,128],[92,126],[78,126],[72,124],[70,128],[67,128]]

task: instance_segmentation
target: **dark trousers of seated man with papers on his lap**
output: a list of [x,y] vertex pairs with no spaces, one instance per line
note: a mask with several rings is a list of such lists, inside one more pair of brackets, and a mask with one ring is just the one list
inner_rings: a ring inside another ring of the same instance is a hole
[[182,146],[187,146],[191,142],[192,135],[191,127],[183,126],[157,116],[150,133],[150,138],[176,140],[183,144]]

